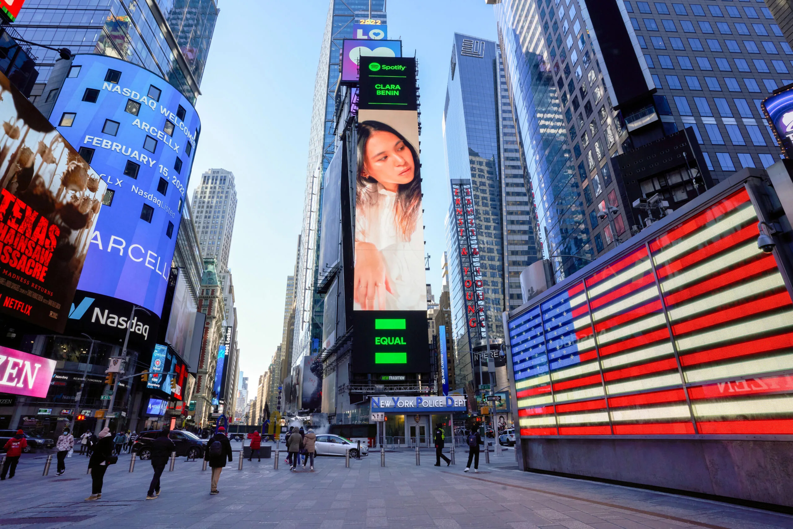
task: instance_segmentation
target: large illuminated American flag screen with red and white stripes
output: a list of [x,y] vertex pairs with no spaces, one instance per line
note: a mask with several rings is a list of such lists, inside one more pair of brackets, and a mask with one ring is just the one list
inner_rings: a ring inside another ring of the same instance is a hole
[[793,303],[740,189],[508,321],[520,434],[790,435]]

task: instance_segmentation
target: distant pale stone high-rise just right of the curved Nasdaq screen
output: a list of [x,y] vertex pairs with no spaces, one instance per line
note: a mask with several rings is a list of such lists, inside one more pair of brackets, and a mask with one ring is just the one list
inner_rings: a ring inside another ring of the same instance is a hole
[[228,251],[232,246],[237,190],[234,173],[210,169],[201,174],[201,183],[193,191],[195,216],[201,255],[217,259],[217,270],[228,271]]

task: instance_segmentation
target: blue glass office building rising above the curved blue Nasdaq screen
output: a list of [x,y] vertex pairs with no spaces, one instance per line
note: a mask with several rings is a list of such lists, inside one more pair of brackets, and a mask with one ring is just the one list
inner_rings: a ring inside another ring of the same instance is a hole
[[[33,42],[147,68],[194,103],[218,13],[215,0],[27,0],[14,26]],[[43,87],[58,52],[36,53]]]

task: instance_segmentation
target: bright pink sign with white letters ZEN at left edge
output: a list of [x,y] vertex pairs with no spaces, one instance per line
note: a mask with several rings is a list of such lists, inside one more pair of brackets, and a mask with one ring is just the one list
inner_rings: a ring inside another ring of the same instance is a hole
[[0,347],[0,385],[2,393],[47,397],[56,361]]

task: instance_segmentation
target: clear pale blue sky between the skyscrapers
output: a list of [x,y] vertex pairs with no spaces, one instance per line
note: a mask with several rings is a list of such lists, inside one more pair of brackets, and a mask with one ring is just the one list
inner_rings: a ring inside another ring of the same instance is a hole
[[[255,391],[281,343],[286,276],[293,273],[305,190],[308,128],[328,2],[219,2],[197,101],[201,139],[190,195],[201,173],[236,177],[238,205],[229,266],[234,278],[240,369]],[[485,0],[391,0],[389,38],[419,59],[424,224],[440,293],[446,164],[441,120],[454,32],[496,40]]]

